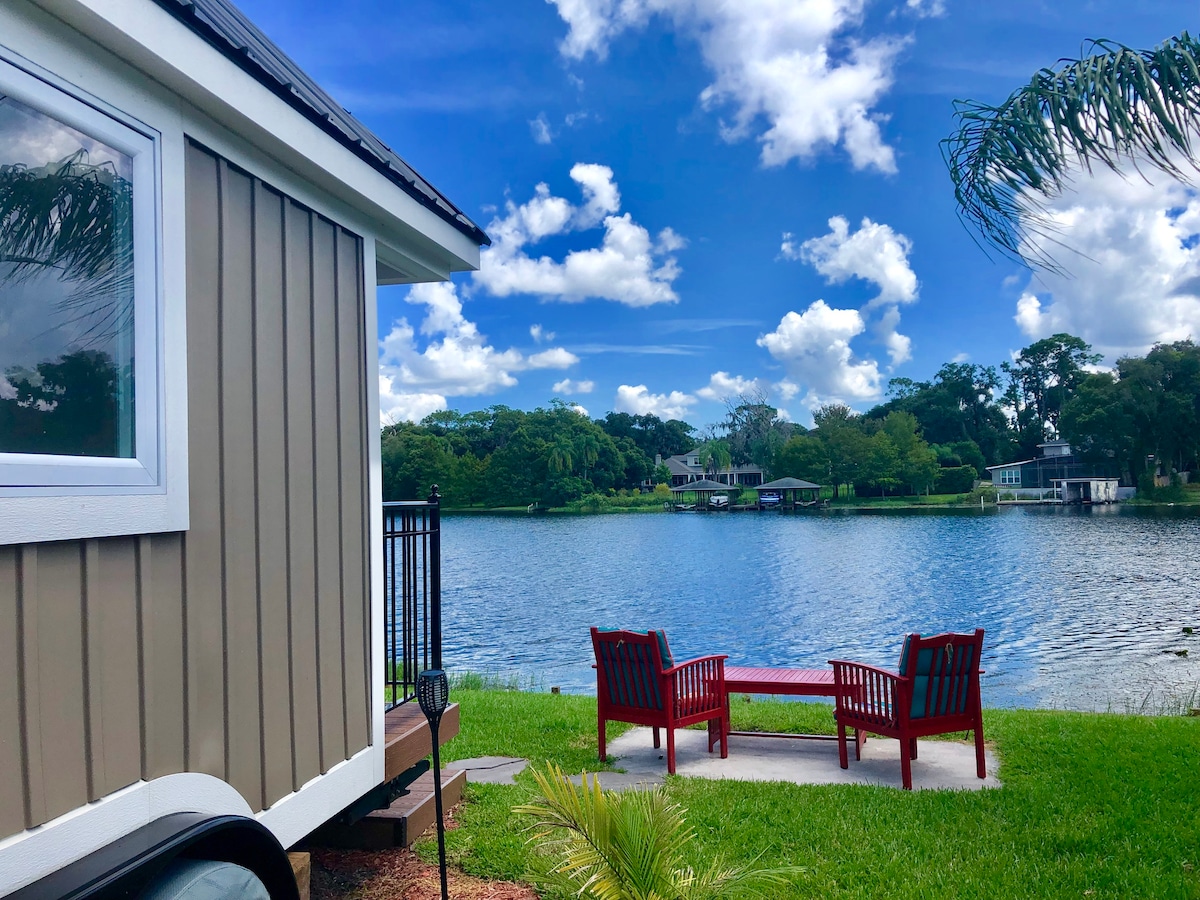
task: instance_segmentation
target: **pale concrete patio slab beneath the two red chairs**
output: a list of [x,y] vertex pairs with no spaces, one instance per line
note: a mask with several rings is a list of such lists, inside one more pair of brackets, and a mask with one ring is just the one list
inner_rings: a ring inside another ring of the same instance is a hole
[[[707,750],[708,734],[685,728],[676,732],[676,774],[737,781],[792,781],[798,785],[886,785],[901,787],[900,744],[888,738],[868,738],[862,761],[850,746],[850,768],[838,764],[838,742],[768,737],[730,738],[730,756]],[[608,758],[632,776],[666,773],[666,737],[655,750],[650,728],[632,728],[608,742]],[[988,778],[976,776],[974,745],[953,740],[922,740],[912,761],[914,790],[967,790],[1000,787],[996,755],[988,750]],[[620,757],[614,760],[613,757]],[[608,787],[608,773],[600,784]]]

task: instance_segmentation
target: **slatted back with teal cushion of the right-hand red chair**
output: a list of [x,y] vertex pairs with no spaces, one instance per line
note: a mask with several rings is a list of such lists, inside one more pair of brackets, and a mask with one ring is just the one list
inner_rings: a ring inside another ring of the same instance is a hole
[[910,718],[932,719],[968,713],[979,696],[983,629],[973,635],[910,635],[900,656],[900,674],[911,679]]

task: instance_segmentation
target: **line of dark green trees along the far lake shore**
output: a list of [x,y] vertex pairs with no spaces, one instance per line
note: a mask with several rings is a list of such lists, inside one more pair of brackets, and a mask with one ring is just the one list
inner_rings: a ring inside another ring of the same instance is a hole
[[754,463],[768,478],[830,485],[835,497],[964,493],[986,467],[1032,458],[1056,438],[1124,484],[1154,468],[1195,470],[1200,347],[1158,344],[1112,372],[1097,371],[1099,359],[1058,334],[998,370],[947,362],[929,382],[892,379],[887,402],[862,414],[820,407],[811,430],[781,419],[762,395],[728,401],[725,418],[703,431],[654,415],[589,419],[562,401],[532,412],[438,412],[384,428],[384,497],[424,497],[436,482],[448,505],[560,506],[666,482],[655,458],[694,449],[706,472]]

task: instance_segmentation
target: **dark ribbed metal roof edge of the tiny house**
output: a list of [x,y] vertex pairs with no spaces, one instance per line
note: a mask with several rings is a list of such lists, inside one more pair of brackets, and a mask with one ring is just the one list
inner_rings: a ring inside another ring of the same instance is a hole
[[343,109],[228,0],[155,0],[293,109],[481,246],[484,230]]

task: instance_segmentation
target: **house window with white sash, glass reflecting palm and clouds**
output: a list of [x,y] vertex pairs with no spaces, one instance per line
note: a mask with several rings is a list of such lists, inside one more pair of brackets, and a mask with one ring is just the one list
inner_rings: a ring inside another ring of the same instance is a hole
[[163,490],[156,143],[0,60],[0,492]]

